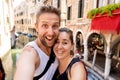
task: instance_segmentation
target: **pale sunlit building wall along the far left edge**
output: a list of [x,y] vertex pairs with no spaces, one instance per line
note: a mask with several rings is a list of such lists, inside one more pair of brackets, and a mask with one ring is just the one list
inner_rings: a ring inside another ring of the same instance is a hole
[[13,0],[0,0],[0,58],[5,69],[5,80],[12,80],[13,75],[10,43],[13,26]]

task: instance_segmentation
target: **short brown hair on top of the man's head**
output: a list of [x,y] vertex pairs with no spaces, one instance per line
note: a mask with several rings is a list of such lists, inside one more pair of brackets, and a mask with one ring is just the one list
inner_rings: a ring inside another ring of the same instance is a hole
[[36,22],[38,22],[39,16],[43,13],[54,13],[59,17],[59,20],[60,20],[60,14],[61,14],[60,10],[53,6],[47,5],[47,6],[40,7],[40,9],[36,15]]

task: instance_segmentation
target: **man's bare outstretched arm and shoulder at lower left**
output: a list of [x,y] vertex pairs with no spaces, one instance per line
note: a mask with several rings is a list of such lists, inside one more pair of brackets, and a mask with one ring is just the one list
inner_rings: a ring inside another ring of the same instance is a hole
[[33,80],[38,55],[32,47],[23,49],[16,65],[14,80]]

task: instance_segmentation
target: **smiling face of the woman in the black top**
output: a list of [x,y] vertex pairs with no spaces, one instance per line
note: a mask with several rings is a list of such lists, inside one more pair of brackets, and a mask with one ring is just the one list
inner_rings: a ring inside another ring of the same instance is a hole
[[70,35],[66,32],[60,32],[58,39],[54,45],[54,52],[58,59],[64,59],[70,56],[70,51],[73,49],[73,44],[70,40]]

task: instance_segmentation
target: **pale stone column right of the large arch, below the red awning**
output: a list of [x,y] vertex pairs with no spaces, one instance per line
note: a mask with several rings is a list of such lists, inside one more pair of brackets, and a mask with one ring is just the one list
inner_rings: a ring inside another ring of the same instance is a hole
[[110,68],[111,68],[111,52],[110,52],[111,40],[112,40],[112,34],[110,34],[110,37],[107,42],[107,52],[106,52],[106,61],[105,61],[105,72],[104,72],[105,80],[108,79],[109,73],[110,73]]

